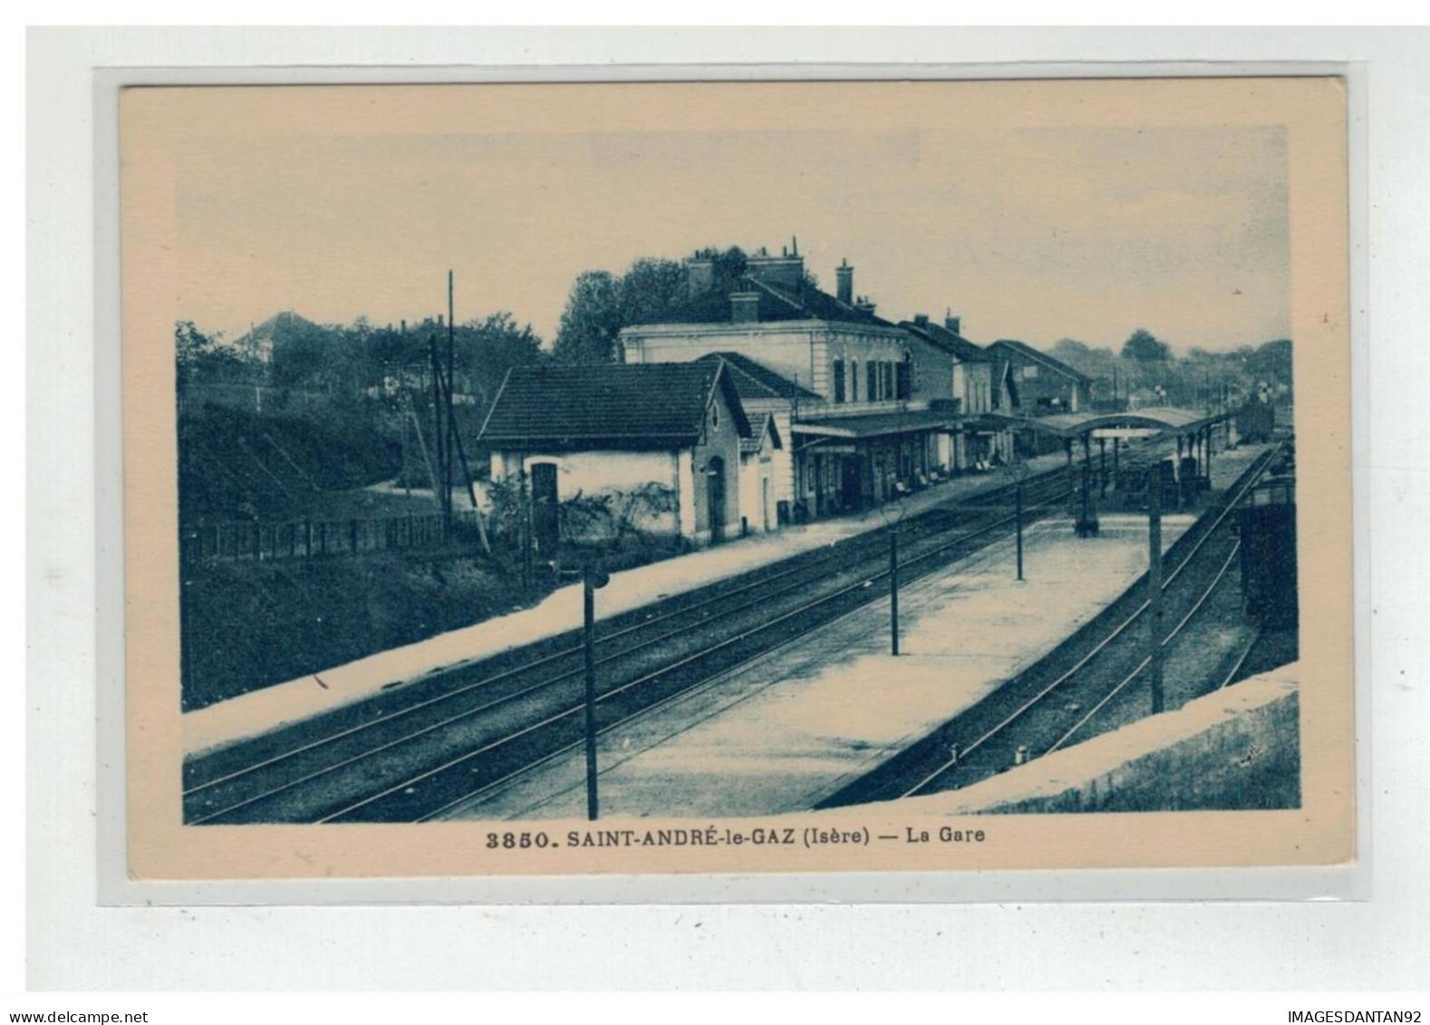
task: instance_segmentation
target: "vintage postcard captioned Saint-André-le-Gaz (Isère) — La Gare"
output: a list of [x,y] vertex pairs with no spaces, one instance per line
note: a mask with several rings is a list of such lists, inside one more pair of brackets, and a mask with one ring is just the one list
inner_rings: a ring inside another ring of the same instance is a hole
[[119,130],[132,878],[1356,861],[1341,80]]

